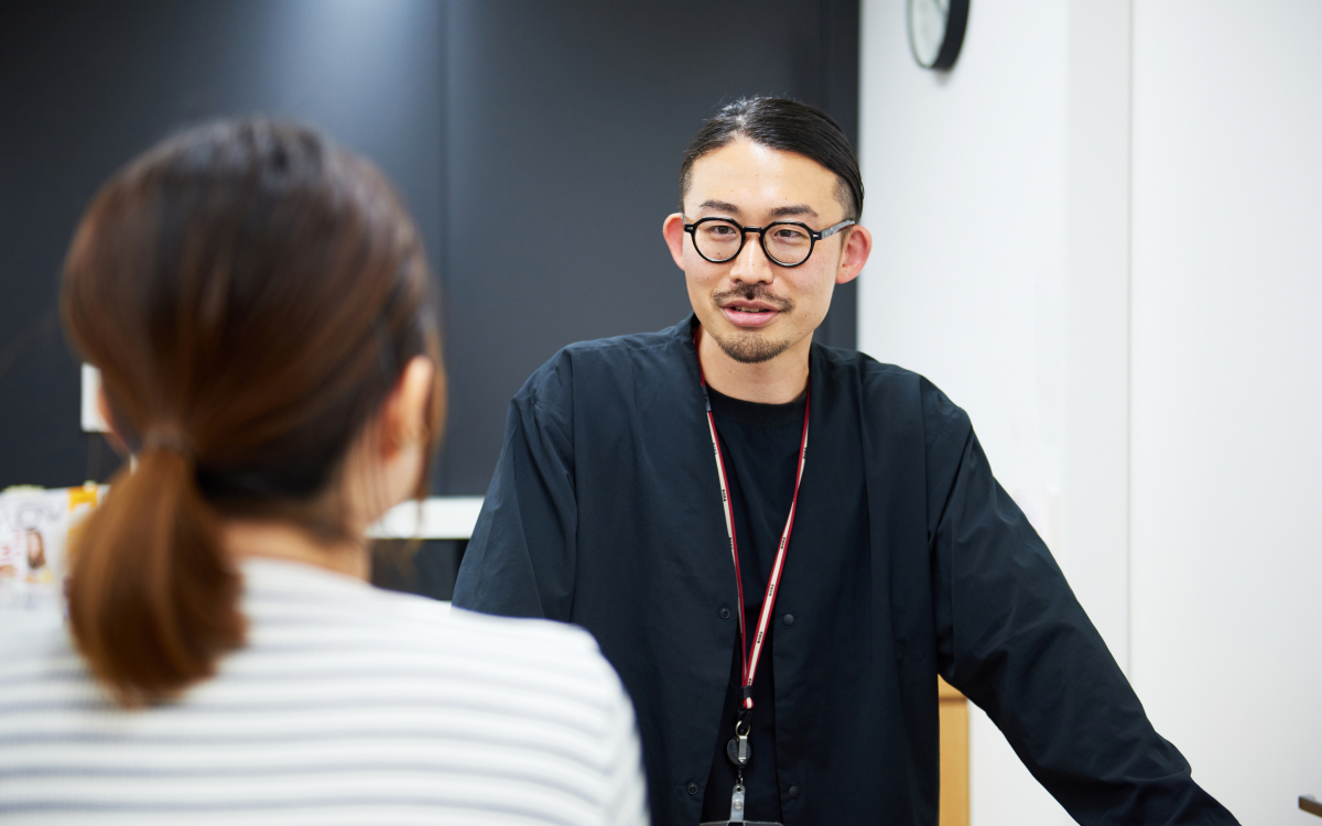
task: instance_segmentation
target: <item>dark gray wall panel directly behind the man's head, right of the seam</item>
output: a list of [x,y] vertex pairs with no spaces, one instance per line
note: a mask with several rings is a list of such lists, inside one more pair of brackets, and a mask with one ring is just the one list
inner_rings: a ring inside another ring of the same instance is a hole
[[[858,4],[455,3],[442,486],[483,493],[509,399],[568,342],[689,312],[661,241],[681,155],[715,104],[780,94],[858,127]],[[821,338],[854,346],[854,289]]]

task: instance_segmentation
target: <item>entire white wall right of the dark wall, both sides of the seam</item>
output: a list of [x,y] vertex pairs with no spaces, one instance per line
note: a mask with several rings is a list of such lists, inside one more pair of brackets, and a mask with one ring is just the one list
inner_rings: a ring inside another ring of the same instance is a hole
[[[859,346],[969,411],[1195,778],[1306,821],[1322,4],[974,3],[945,75],[903,8],[863,11]],[[976,826],[1068,822],[972,736]]]

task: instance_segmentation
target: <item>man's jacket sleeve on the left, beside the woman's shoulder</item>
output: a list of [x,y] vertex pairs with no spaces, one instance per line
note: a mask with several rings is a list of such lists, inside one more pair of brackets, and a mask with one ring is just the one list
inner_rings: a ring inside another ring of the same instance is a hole
[[500,463],[455,582],[456,607],[568,620],[578,533],[568,399],[567,367],[553,359],[510,402]]

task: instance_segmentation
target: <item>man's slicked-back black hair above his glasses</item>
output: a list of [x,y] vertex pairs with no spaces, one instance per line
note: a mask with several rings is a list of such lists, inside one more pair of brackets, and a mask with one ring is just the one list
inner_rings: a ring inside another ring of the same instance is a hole
[[830,169],[839,178],[837,196],[845,217],[858,221],[862,215],[863,177],[845,132],[820,108],[787,98],[740,98],[722,106],[715,118],[702,124],[680,167],[681,211],[694,161],[740,136],[772,149],[802,155]]

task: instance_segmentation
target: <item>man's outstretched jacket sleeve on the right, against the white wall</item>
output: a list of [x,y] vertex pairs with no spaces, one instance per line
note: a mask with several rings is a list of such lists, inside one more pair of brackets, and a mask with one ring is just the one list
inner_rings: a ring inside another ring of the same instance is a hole
[[962,410],[931,389],[937,667],[1080,823],[1235,823],[1158,735]]

